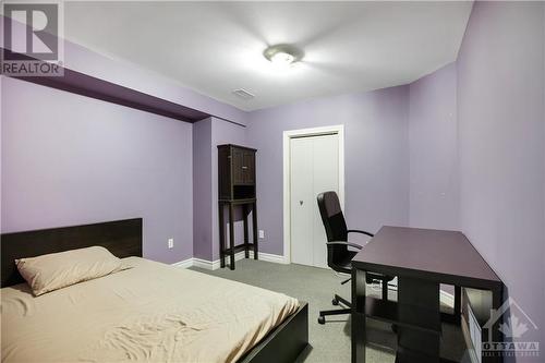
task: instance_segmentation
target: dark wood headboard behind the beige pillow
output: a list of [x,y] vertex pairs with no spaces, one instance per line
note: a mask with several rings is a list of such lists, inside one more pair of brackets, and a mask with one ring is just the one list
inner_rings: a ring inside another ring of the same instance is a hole
[[15,259],[100,245],[119,258],[142,257],[142,218],[4,233],[1,235],[2,288],[24,282]]

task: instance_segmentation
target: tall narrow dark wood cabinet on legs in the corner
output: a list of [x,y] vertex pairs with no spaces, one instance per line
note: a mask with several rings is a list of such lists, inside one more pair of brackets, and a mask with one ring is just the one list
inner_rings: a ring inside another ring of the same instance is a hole
[[[218,203],[219,203],[219,255],[221,267],[226,256],[230,257],[230,268],[234,269],[234,253],[244,251],[246,258],[250,250],[257,259],[257,199],[255,191],[255,148],[240,145],[218,145]],[[225,207],[229,208],[229,247],[225,233]],[[242,208],[244,222],[244,243],[234,243],[234,208]],[[247,216],[252,211],[253,243],[250,243]]]

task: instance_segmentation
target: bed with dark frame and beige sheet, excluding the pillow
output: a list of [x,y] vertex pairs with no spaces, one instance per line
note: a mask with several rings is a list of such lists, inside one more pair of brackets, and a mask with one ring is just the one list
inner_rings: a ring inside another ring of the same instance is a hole
[[[34,298],[15,258],[92,245],[130,268]],[[142,258],[142,219],[2,234],[4,362],[293,362],[307,305]]]

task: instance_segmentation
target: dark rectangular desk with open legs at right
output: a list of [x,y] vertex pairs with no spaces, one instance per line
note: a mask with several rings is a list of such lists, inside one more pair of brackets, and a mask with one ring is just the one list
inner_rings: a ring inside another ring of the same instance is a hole
[[[365,316],[397,325],[396,362],[439,362],[439,283],[489,290],[492,307],[501,305],[504,283],[461,232],[383,227],[352,267],[352,363],[365,362]],[[366,271],[397,276],[398,302],[366,297]],[[500,323],[494,341],[501,341]]]

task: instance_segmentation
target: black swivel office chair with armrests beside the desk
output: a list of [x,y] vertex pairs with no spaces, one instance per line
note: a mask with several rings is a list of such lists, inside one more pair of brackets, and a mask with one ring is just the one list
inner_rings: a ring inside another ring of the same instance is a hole
[[[327,235],[327,265],[337,273],[351,274],[352,266],[351,261],[358,252],[350,251],[348,247],[354,247],[361,250],[362,246],[359,244],[348,242],[349,233],[362,233],[368,237],[373,237],[372,233],[360,231],[355,229],[348,229],[347,222],[344,221],[344,216],[339,203],[339,197],[335,192],[325,192],[318,195],[318,208],[322,215],[322,221],[326,228]],[[388,300],[388,281],[392,280],[393,277],[385,276],[379,274],[365,274],[366,282],[373,283],[375,281],[380,281],[383,286],[383,300]],[[342,281],[341,285],[350,281],[350,278]],[[338,294],[335,294],[331,303],[334,305],[339,305],[341,302],[347,308],[338,310],[326,310],[319,312],[318,323],[325,324],[326,316],[328,315],[341,315],[350,314],[351,302],[342,299]]]

